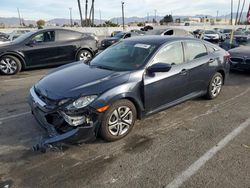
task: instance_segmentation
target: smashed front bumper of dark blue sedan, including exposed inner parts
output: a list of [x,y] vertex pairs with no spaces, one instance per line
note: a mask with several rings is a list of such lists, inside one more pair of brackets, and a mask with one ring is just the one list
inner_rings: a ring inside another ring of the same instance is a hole
[[82,115],[68,115],[58,106],[49,106],[41,100],[34,87],[30,89],[29,104],[32,114],[48,136],[33,146],[34,150],[46,151],[61,143],[83,143],[96,138],[100,114],[86,109]]

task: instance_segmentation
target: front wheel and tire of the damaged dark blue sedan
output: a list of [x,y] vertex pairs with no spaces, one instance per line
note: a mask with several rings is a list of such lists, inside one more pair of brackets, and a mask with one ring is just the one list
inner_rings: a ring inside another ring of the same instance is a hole
[[132,130],[137,112],[134,104],[122,99],[113,103],[105,112],[100,134],[106,141],[116,141],[125,137]]

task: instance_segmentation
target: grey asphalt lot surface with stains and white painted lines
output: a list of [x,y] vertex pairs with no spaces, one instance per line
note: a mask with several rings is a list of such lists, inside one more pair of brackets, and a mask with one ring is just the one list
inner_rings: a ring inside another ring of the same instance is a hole
[[0,187],[250,187],[250,74],[231,73],[217,99],[138,121],[120,141],[41,154],[27,95],[47,71],[0,77]]

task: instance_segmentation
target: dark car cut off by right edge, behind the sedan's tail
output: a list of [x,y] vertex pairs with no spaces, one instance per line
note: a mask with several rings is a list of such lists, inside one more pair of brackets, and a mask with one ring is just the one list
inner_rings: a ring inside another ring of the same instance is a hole
[[250,71],[250,47],[241,46],[229,50],[231,69]]

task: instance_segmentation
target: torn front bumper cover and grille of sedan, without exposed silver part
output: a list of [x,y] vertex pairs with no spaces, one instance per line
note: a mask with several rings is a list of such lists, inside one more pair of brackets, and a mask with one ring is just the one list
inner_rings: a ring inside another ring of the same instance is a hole
[[[99,125],[100,115],[93,121],[84,122],[79,126],[70,126],[64,120],[63,116],[57,110],[46,108],[45,103],[39,100],[31,88],[29,95],[29,105],[32,114],[38,124],[46,131],[47,136],[39,143],[40,147],[48,147],[58,143],[83,143],[96,138],[97,128]],[[56,123],[51,123],[52,118],[56,119]]]

